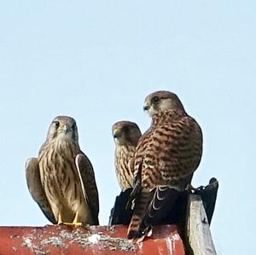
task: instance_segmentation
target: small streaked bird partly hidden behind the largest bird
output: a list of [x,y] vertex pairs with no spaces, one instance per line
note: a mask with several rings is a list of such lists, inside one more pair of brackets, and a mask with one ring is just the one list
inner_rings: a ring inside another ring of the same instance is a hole
[[119,121],[112,127],[115,142],[114,165],[116,177],[122,191],[132,188],[134,154],[138,139],[142,136],[136,123]]

